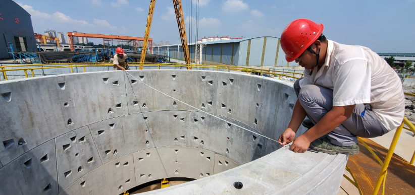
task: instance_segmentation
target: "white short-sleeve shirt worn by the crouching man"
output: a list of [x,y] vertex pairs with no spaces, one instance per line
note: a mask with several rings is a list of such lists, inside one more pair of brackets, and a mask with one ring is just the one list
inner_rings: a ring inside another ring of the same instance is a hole
[[312,75],[304,70],[300,86],[318,85],[333,90],[333,106],[371,104],[390,131],[400,125],[404,114],[402,84],[389,64],[371,49],[328,40],[324,65]]

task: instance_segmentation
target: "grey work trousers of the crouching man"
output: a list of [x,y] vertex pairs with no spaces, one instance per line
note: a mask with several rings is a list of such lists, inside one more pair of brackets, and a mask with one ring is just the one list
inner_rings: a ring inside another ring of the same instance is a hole
[[[308,118],[317,124],[327,112],[333,108],[333,90],[317,85],[305,85],[300,88],[297,79],[294,90],[298,100],[307,113]],[[365,111],[364,116],[361,113]],[[375,138],[389,131],[379,121],[370,105],[356,104],[350,118],[323,137],[328,137],[331,143],[338,146],[357,144],[357,137]]]

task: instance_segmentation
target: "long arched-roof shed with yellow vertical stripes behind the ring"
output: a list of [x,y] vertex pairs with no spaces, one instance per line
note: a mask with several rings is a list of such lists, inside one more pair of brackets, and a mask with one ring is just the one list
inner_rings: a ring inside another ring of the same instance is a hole
[[[200,41],[199,43],[203,45],[201,49],[201,61],[203,64],[254,67],[287,66],[284,52],[282,52],[280,41],[277,37],[265,36],[209,42]],[[195,50],[195,43],[190,43],[189,55],[192,61],[196,58]],[[154,46],[153,52],[154,54],[170,55],[171,58],[184,60],[181,44]],[[298,65],[294,62],[291,66]]]

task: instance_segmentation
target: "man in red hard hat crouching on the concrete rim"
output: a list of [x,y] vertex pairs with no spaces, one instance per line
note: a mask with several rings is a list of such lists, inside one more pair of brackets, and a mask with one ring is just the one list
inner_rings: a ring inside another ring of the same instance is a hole
[[[401,81],[378,54],[327,40],[323,29],[323,24],[298,19],[281,34],[286,60],[295,60],[305,70],[294,83],[298,100],[279,142],[293,142],[294,152],[310,148],[357,154],[357,137],[382,136],[402,122]],[[294,139],[301,123],[308,130]]]

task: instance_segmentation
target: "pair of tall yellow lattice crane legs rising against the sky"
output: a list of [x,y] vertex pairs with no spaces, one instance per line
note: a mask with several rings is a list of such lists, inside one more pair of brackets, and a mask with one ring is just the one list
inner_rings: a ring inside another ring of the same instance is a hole
[[[155,5],[155,0],[150,0],[150,8],[148,10],[147,26],[145,28],[144,44],[143,44],[143,49],[141,50],[140,63],[144,62],[145,53],[147,51],[147,40],[150,34],[151,21],[153,19],[153,13],[154,13],[154,5]],[[177,20],[177,25],[179,27],[180,39],[182,41],[184,60],[186,61],[186,64],[190,64],[189,47],[187,46],[186,28],[184,26],[182,1],[173,0],[173,5],[174,5],[174,11],[176,12],[176,20]],[[140,70],[142,69],[143,69],[143,64],[140,64]],[[187,67],[187,69],[190,69],[190,67]]]

